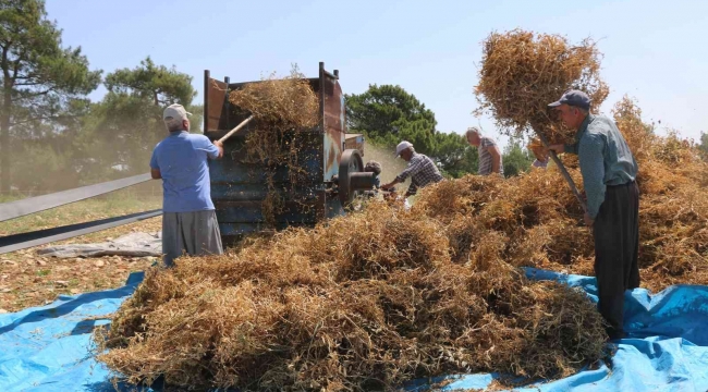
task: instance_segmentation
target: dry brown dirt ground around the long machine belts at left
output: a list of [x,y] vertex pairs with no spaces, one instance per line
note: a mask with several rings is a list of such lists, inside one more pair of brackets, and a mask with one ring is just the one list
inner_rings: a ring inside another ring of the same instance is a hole
[[[148,184],[137,192],[135,188],[126,188],[114,192],[109,197],[96,197],[0,222],[0,236],[160,208],[161,189],[149,186],[157,187],[159,184]],[[19,198],[22,196],[5,197],[0,199],[0,203]],[[120,287],[131,272],[145,270],[157,261],[155,257],[60,259],[38,256],[36,253],[38,249],[59,244],[100,243],[131,232],[157,232],[161,230],[161,224],[162,218],[156,217],[0,255],[0,313],[42,306],[53,302],[60,294],[73,295]]]

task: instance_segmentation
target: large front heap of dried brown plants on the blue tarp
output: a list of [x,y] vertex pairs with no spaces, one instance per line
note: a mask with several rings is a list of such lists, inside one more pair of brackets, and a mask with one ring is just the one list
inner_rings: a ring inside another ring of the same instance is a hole
[[375,201],[181,258],[146,275],[97,336],[111,348],[99,359],[134,383],[369,391],[451,372],[564,377],[601,356],[583,292],[527,280],[501,259],[500,233],[471,246],[456,230]]

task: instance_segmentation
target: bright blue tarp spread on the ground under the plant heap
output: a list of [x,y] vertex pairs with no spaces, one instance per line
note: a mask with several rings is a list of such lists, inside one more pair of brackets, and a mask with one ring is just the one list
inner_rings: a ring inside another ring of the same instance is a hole
[[[527,275],[558,280],[596,297],[595,278],[527,269]],[[74,296],[51,305],[0,315],[0,391],[114,391],[108,370],[90,355],[95,326],[109,322],[143,279],[133,273],[125,286]],[[614,355],[599,369],[581,371],[517,391],[708,391],[708,286],[675,285],[650,295],[625,295],[630,338],[613,344]],[[444,390],[484,389],[498,375],[450,376]],[[413,382],[424,391],[429,382]],[[126,389],[127,390],[127,389]]]

